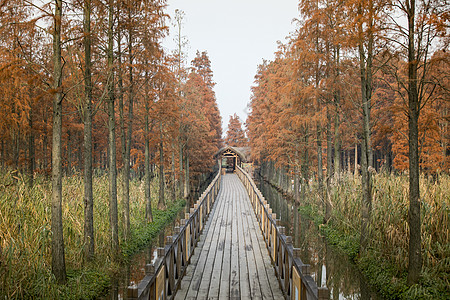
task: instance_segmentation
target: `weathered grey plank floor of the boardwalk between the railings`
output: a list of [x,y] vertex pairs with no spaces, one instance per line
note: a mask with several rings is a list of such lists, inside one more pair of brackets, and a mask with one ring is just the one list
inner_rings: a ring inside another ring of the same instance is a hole
[[283,299],[247,191],[235,174],[222,180],[175,299]]

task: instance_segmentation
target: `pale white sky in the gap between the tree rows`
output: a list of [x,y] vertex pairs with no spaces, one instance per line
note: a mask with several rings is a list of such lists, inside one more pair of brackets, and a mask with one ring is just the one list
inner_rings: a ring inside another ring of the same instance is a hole
[[[189,40],[188,63],[197,50],[207,51],[211,60],[215,92],[224,134],[229,116],[247,118],[250,87],[257,66],[263,59],[273,60],[277,41],[294,30],[298,0],[168,0],[167,13],[185,12],[182,35]],[[164,42],[176,48],[175,30]]]

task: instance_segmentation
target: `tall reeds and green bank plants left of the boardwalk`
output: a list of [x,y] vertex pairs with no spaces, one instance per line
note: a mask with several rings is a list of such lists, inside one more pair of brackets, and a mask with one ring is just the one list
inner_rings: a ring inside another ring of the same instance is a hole
[[[119,179],[120,180],[120,179]],[[157,207],[158,180],[152,182],[152,207]],[[119,189],[122,186],[118,185]],[[153,208],[154,221],[145,221],[144,182],[130,182],[131,238],[123,240],[115,262],[109,238],[107,174],[94,177],[95,259],[83,262],[83,177],[63,178],[63,226],[67,283],[58,285],[51,271],[51,182],[0,172],[0,298],[94,299],[110,288],[111,278],[130,257],[148,245],[185,207],[185,200],[168,201],[167,209]],[[119,190],[120,192],[120,190]],[[119,201],[119,212],[122,203]],[[119,224],[123,218],[119,213]]]

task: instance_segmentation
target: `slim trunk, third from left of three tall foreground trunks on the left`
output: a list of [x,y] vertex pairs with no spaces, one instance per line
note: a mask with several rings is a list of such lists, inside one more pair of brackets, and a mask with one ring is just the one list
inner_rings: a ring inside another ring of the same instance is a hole
[[109,140],[109,228],[113,259],[119,257],[119,221],[117,208],[116,113],[114,110],[114,0],[108,13],[108,140]]

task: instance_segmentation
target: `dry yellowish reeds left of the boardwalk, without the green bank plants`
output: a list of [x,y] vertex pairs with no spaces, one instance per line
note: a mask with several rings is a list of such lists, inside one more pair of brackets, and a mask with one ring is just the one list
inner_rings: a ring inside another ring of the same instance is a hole
[[[140,181],[131,183],[134,224],[144,220],[145,200],[141,185]],[[105,262],[111,260],[108,197],[107,176],[94,178],[95,249],[97,264],[103,269],[107,268]],[[50,198],[51,185],[44,177],[38,176],[30,189],[26,178],[13,179],[11,172],[0,172],[0,298],[55,298],[61,295],[51,273]],[[65,177],[63,226],[69,277],[71,270],[80,270],[83,264],[83,216],[82,176]]]

